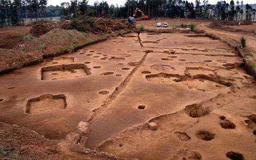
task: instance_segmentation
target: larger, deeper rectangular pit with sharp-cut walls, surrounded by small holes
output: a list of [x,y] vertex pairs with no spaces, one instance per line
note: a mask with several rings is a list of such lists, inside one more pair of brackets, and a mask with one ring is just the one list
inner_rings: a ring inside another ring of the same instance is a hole
[[77,78],[90,75],[90,69],[84,64],[59,65],[41,69],[42,81]]

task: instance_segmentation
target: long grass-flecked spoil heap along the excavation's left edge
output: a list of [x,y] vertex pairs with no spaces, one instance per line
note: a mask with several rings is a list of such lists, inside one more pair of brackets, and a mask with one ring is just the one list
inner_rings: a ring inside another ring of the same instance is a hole
[[95,41],[100,35],[82,34],[77,30],[53,29],[48,33],[20,45],[18,49],[0,49],[0,73],[8,73],[38,63],[43,57],[53,57],[75,46]]

